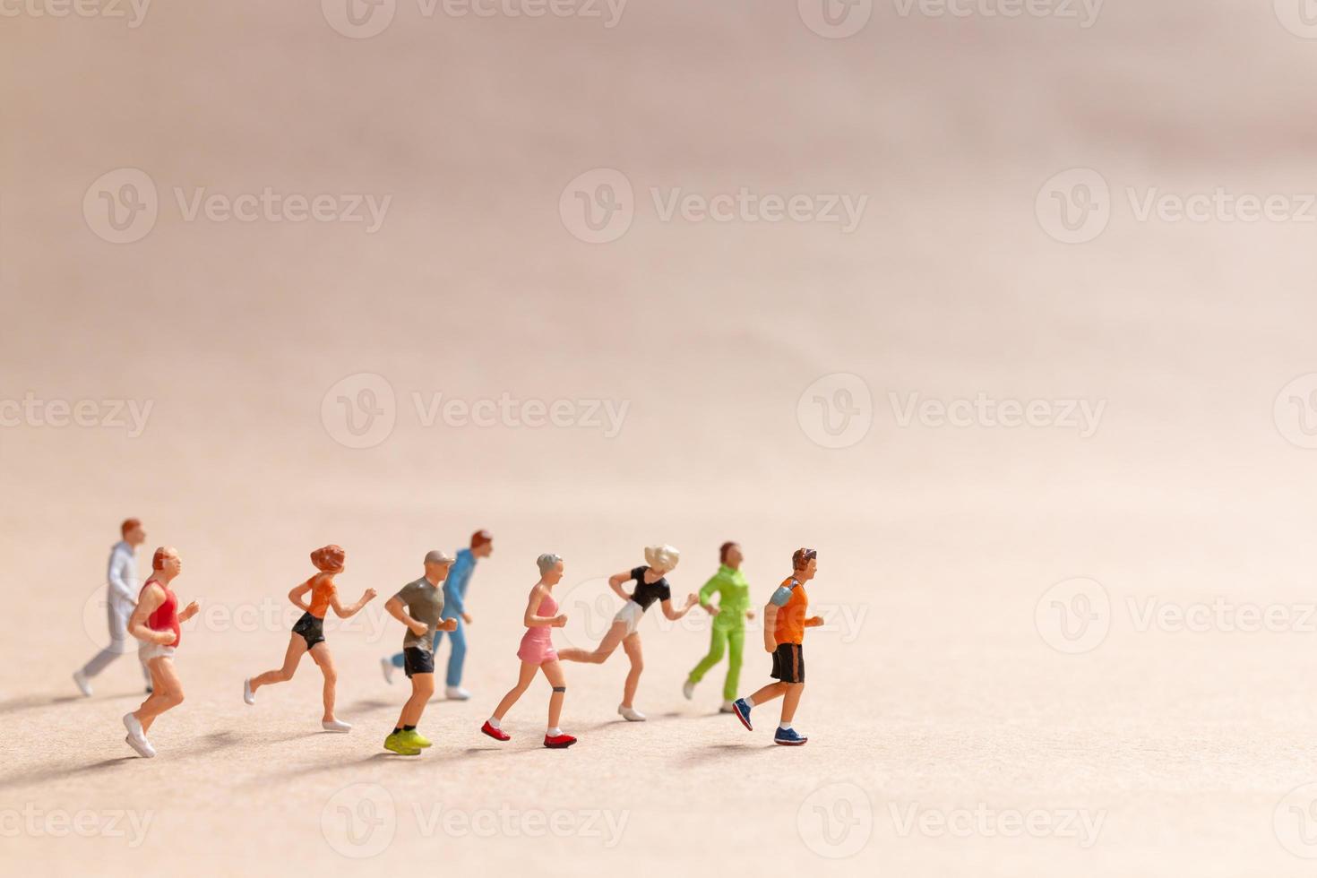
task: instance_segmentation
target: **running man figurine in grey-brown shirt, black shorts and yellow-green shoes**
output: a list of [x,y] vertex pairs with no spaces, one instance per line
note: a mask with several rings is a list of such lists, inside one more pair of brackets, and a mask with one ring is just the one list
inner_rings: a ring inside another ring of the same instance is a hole
[[385,749],[402,756],[416,756],[431,745],[416,727],[429,696],[435,694],[435,632],[457,628],[456,619],[443,619],[444,591],[440,586],[452,565],[453,559],[443,552],[427,553],[425,575],[408,582],[385,604],[390,616],[407,625],[403,671],[411,678],[412,694],[403,704],[398,725],[385,738]]

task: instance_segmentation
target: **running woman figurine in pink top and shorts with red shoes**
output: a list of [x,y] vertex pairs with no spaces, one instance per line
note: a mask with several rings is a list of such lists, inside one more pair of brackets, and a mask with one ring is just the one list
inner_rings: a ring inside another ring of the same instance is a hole
[[516,699],[525,695],[525,690],[535,681],[536,671],[544,671],[544,678],[553,687],[549,696],[549,728],[544,733],[544,746],[551,750],[561,750],[576,744],[576,738],[564,735],[558,728],[562,716],[562,699],[568,691],[566,678],[562,675],[562,665],[558,663],[558,654],[553,649],[553,638],[549,628],[562,628],[568,624],[568,617],[558,612],[558,604],[553,600],[553,586],[562,579],[562,558],[556,554],[543,554],[536,562],[540,567],[540,581],[531,588],[531,599],[525,604],[522,623],[525,625],[525,634],[522,636],[522,646],[516,650],[516,657],[522,659],[522,673],[516,679],[516,686],[508,690],[503,700],[494,710],[494,716],[485,720],[481,731],[495,741],[508,741],[511,735],[500,725]]

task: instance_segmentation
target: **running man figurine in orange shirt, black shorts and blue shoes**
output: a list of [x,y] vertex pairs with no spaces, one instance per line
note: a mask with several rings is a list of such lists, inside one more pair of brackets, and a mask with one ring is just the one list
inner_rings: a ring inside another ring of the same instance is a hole
[[792,717],[805,692],[805,629],[823,624],[822,616],[805,616],[810,600],[805,594],[805,583],[814,578],[818,566],[818,552],[814,549],[797,549],[792,555],[792,575],[782,581],[764,607],[764,649],[773,653],[773,679],[777,682],[732,703],[741,725],[753,731],[749,724],[751,708],[781,695],[782,721],[773,736],[774,744],[799,746],[809,741],[809,737],[792,728]]

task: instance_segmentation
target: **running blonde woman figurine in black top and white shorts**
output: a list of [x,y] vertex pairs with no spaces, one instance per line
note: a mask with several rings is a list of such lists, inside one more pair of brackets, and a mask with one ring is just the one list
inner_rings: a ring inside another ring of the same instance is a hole
[[[632,704],[636,698],[636,686],[640,683],[640,673],[645,669],[644,656],[640,652],[640,633],[636,631],[636,625],[640,624],[640,619],[656,600],[662,603],[662,615],[672,621],[677,621],[685,616],[697,603],[695,595],[686,595],[685,606],[681,609],[673,609],[672,588],[664,577],[672,573],[680,559],[681,553],[673,546],[645,548],[644,566],[632,567],[626,573],[608,577],[608,587],[627,603],[614,616],[612,625],[608,628],[608,633],[603,636],[603,640],[599,641],[599,646],[593,653],[587,653],[583,649],[564,649],[558,652],[558,658],[565,662],[602,665],[612,654],[612,650],[618,648],[618,644],[622,644],[622,648],[627,652],[627,658],[631,659],[631,671],[627,674],[627,682],[622,690],[622,704],[618,706],[618,713],[631,723],[643,723],[645,720],[645,715]],[[622,587],[622,583],[628,579],[633,579],[636,583],[630,595]]]

